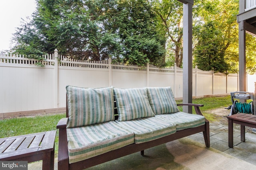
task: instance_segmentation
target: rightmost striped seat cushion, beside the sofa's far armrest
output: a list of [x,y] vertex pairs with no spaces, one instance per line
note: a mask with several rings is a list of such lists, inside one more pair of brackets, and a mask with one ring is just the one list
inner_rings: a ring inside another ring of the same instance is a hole
[[179,111],[177,113],[156,115],[155,117],[159,120],[175,123],[177,131],[192,127],[198,127],[205,124],[204,116],[184,113],[182,111]]

